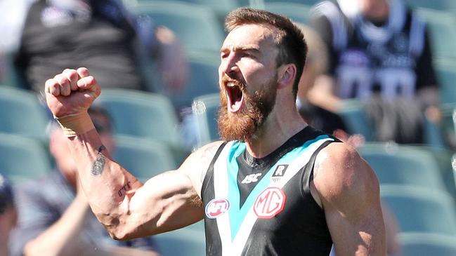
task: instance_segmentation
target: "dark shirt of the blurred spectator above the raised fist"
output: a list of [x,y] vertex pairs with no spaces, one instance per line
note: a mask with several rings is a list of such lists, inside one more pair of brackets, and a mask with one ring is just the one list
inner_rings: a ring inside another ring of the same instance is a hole
[[74,10],[57,2],[62,6],[34,1],[25,20],[17,65],[32,90],[44,90],[49,77],[77,67],[91,70],[103,88],[145,89],[136,30],[118,1],[88,1]]

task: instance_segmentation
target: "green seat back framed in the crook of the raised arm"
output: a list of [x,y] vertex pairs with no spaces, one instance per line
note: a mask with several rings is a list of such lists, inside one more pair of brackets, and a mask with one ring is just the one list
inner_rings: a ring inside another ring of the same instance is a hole
[[167,144],[126,135],[115,136],[115,144],[115,161],[141,182],[178,167]]

